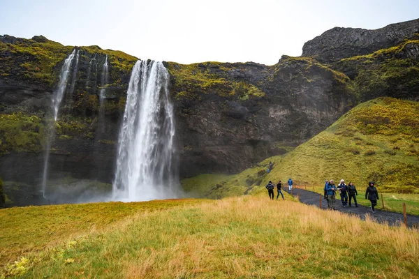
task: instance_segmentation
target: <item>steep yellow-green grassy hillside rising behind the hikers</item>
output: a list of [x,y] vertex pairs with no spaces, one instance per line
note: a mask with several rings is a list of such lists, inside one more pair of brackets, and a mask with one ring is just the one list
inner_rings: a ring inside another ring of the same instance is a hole
[[[376,181],[389,210],[419,214],[419,104],[395,98],[362,103],[332,126],[286,156],[267,158],[234,176],[202,175],[182,185],[199,197],[221,198],[265,193],[272,180],[293,178],[300,186],[318,186],[325,179],[353,181],[362,195],[368,181]],[[266,172],[269,162],[273,169]],[[311,188],[310,188],[311,189]],[[404,194],[404,195],[403,195]],[[409,195],[406,195],[409,194]]]

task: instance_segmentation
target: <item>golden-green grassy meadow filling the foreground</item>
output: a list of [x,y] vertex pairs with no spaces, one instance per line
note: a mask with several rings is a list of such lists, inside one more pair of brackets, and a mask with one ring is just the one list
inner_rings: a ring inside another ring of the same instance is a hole
[[[289,200],[267,202],[266,197],[165,203],[69,205],[68,214],[57,212],[60,206],[1,210],[1,220],[6,220],[0,228],[1,245],[28,241],[33,248],[9,264],[5,274],[16,278],[414,278],[419,273],[416,230],[365,222]],[[127,214],[120,216],[116,205],[131,212],[124,210]],[[150,205],[159,210],[148,210]],[[78,210],[80,206],[83,210]],[[95,215],[99,211],[105,212],[100,218]],[[75,229],[61,229],[55,242],[45,241],[53,235],[50,227],[67,226],[54,217],[56,213],[60,218],[70,215],[84,228],[76,235]],[[42,221],[46,214],[52,216],[50,227]],[[41,222],[32,220],[34,216]],[[91,230],[95,220],[102,225]],[[38,234],[15,235],[11,231],[17,227]],[[17,255],[3,256],[2,261]]]

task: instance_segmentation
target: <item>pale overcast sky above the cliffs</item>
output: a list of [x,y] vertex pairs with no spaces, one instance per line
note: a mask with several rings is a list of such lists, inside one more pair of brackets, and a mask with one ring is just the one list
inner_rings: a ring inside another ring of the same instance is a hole
[[0,34],[179,63],[272,65],[333,27],[377,29],[418,17],[419,0],[0,0]]

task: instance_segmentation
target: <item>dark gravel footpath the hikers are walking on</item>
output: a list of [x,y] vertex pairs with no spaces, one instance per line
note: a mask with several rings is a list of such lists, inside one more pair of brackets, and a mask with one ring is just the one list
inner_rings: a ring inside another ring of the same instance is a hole
[[[293,188],[293,195],[297,196],[300,195],[300,201],[304,204],[310,204],[319,206],[320,204],[320,194],[314,193],[311,191],[299,189],[299,188]],[[358,195],[358,199],[362,199],[362,195]],[[328,209],[328,202],[321,197],[321,208],[322,209]],[[378,208],[380,206],[377,206]],[[361,219],[365,219],[365,215],[369,214],[372,216],[377,222],[383,223],[387,222],[390,225],[399,225],[400,222],[404,222],[403,214],[402,213],[396,213],[396,212],[389,212],[389,211],[381,211],[379,209],[376,209],[376,213],[372,213],[371,208],[368,206],[358,206],[355,207],[355,204],[352,204],[351,207],[343,207],[341,204],[341,200],[339,198],[339,195],[337,196],[336,203],[335,203],[335,209],[341,212],[345,212],[348,214],[353,214]],[[407,225],[411,227],[413,224],[419,225],[419,216],[409,215],[407,216]]]

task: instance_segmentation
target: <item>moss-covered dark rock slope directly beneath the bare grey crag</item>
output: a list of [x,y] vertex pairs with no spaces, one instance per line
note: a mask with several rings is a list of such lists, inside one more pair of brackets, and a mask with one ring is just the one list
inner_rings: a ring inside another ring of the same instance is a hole
[[411,40],[372,54],[342,59],[337,70],[352,79],[360,100],[378,96],[415,98],[419,91],[419,34]]

